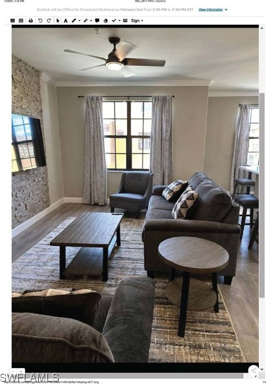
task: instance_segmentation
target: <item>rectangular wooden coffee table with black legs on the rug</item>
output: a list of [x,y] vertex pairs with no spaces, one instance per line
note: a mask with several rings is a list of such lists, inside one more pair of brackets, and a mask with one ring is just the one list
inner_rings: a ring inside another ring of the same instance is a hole
[[[108,258],[115,245],[120,245],[120,222],[123,214],[86,213],[76,218],[50,245],[60,247],[59,275],[103,275],[108,280]],[[115,236],[116,234],[116,236]],[[80,247],[66,268],[66,247]],[[102,250],[102,249],[103,250]]]

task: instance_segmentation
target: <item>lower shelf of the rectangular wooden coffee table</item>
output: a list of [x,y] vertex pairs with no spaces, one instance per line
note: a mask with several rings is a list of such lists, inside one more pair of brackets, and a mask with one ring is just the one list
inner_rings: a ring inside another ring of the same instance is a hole
[[[100,247],[82,247],[78,253],[68,264],[63,272],[62,278],[69,276],[100,276],[103,280],[108,279],[108,269],[104,271],[105,252],[108,250],[108,258],[110,257],[113,247],[116,243],[116,236],[112,239],[109,248]],[[107,260],[108,263],[108,260]],[[107,265],[106,265],[107,267]],[[107,267],[108,268],[108,267]]]

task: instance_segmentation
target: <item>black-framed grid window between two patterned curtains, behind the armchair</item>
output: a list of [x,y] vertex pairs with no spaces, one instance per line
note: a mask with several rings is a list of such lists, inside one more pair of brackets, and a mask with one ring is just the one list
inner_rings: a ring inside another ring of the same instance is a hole
[[107,169],[149,169],[151,101],[104,101]]

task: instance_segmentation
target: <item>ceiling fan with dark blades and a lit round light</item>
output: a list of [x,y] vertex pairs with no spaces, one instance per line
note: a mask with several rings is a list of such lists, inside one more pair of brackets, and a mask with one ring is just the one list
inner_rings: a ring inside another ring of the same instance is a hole
[[[87,53],[81,53],[72,51],[70,49],[65,49],[64,52],[77,53],[85,56],[95,57],[95,59],[100,59],[105,62],[105,64],[95,65],[93,67],[80,69],[81,71],[87,71],[91,68],[103,67],[106,66],[108,69],[112,71],[119,71],[123,69],[121,72],[125,77],[129,77],[134,75],[135,73],[131,71],[129,68],[125,68],[126,66],[149,66],[149,67],[163,67],[166,63],[165,60],[153,60],[153,59],[132,59],[130,57],[125,57],[129,51],[134,47],[133,44],[128,42],[121,42],[119,37],[109,37],[109,42],[113,45],[113,50],[108,54],[108,58],[94,56]],[[119,44],[120,43],[120,44]],[[118,47],[116,47],[119,44]]]

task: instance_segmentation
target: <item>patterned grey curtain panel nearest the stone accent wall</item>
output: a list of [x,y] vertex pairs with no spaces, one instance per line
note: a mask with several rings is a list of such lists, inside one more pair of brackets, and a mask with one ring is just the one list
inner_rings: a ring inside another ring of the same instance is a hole
[[104,148],[103,97],[86,96],[83,203],[105,205],[107,170]]

